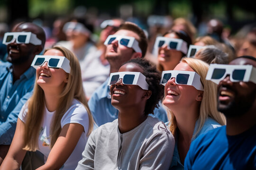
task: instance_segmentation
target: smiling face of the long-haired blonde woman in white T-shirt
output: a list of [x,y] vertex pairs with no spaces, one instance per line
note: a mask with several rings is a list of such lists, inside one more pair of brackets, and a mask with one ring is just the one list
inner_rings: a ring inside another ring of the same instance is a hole
[[[64,56],[61,51],[56,49],[48,50],[44,55]],[[49,87],[52,89],[63,89],[68,79],[68,73],[62,68],[49,68],[46,61],[42,66],[37,68],[37,77],[37,84],[40,85],[42,89]]]

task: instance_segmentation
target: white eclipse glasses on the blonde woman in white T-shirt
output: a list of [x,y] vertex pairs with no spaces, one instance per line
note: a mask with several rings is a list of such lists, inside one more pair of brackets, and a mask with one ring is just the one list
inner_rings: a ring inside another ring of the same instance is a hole
[[64,56],[36,55],[31,66],[37,69],[46,61],[49,68],[62,68],[66,73],[70,73],[69,60]]

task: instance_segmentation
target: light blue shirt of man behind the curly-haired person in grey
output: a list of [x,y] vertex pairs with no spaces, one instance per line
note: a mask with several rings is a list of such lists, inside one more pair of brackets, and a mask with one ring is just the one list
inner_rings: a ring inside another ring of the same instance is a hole
[[[111,105],[110,87],[107,85],[108,79],[92,94],[88,105],[91,110],[94,121],[98,126],[101,126],[107,122],[112,122],[118,118],[118,110]],[[152,117],[158,118],[163,122],[167,121],[167,114],[159,103],[160,107],[154,110],[154,115],[149,114]]]

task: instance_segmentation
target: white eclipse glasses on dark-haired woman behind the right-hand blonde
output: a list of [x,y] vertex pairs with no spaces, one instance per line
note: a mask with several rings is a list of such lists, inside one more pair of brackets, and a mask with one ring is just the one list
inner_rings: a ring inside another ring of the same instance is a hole
[[167,49],[169,50],[181,51],[184,54],[188,52],[187,42],[184,42],[182,39],[169,38],[164,36],[156,37],[154,48],[160,48],[165,44],[167,45]]

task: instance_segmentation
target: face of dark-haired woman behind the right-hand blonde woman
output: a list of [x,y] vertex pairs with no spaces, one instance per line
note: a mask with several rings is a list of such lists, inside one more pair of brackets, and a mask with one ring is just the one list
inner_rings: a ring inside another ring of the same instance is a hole
[[[166,34],[168,38],[180,38],[175,33]],[[183,57],[183,53],[177,50],[169,50],[167,45],[158,48],[158,62],[164,67],[164,70],[173,70],[179,64]]]

